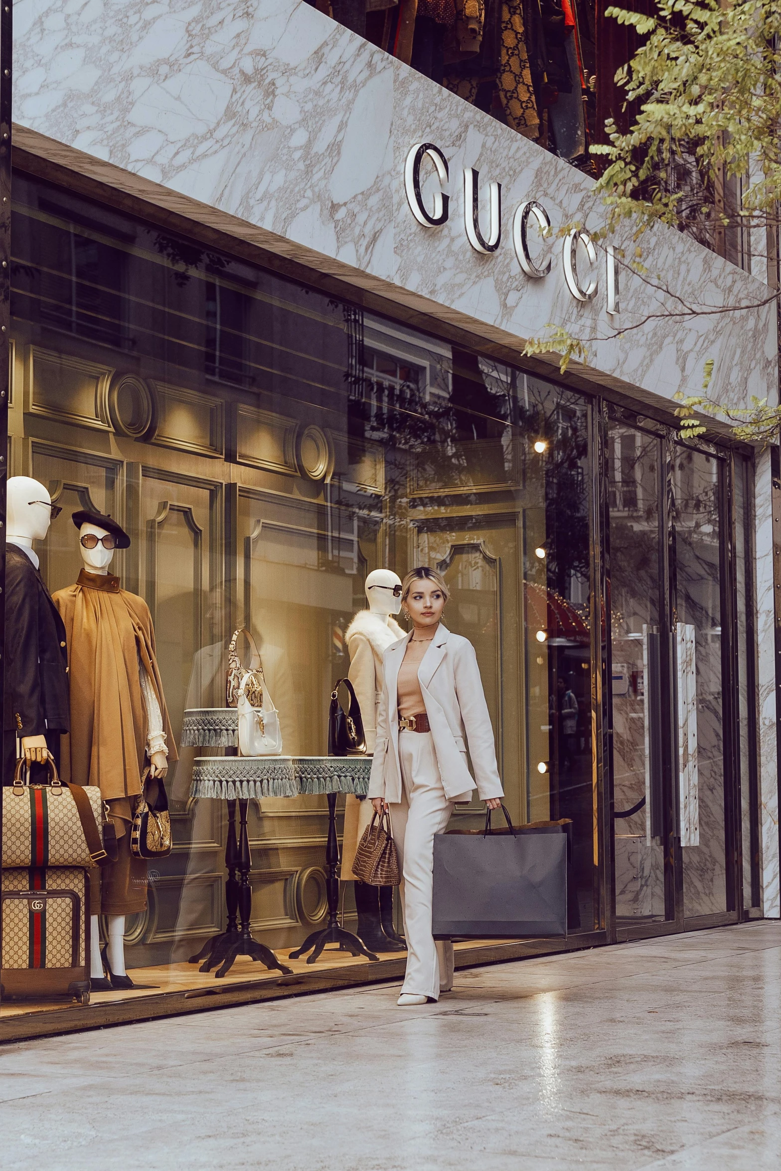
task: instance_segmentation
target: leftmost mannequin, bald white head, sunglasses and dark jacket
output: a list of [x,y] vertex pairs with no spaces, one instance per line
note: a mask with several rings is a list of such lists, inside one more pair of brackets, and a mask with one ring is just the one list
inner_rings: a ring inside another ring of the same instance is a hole
[[[59,513],[37,480],[8,480],[4,785],[11,783],[19,754],[30,766],[49,754],[59,763],[60,737],[69,726],[66,632],[33,549]],[[35,773],[30,780],[39,780]]]

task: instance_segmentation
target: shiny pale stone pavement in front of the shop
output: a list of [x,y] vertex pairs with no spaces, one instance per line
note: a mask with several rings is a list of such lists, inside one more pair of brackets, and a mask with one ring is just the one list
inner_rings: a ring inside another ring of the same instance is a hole
[[0,1049],[4,1171],[779,1171],[781,924]]

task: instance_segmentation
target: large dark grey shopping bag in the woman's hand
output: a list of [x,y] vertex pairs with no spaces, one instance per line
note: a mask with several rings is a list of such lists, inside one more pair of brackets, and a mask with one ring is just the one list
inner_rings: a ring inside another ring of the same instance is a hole
[[567,933],[567,835],[513,829],[434,837],[434,939]]

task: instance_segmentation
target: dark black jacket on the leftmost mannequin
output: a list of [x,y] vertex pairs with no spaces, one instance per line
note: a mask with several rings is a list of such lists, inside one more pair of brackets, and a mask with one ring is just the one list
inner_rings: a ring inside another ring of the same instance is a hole
[[26,553],[6,547],[6,701],[4,730],[20,737],[67,732],[66,628]]

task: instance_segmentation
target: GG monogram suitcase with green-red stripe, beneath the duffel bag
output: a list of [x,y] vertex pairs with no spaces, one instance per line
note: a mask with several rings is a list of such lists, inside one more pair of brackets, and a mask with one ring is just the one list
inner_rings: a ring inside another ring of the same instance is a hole
[[89,1004],[89,876],[81,867],[2,871],[4,997]]

